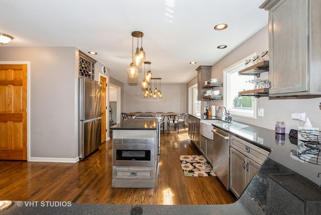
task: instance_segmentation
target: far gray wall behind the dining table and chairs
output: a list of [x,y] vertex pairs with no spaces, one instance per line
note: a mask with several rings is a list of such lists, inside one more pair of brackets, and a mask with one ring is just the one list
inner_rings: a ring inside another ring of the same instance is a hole
[[175,112],[187,113],[186,84],[162,83],[163,98],[144,98],[139,85],[124,84],[123,111],[129,112]]

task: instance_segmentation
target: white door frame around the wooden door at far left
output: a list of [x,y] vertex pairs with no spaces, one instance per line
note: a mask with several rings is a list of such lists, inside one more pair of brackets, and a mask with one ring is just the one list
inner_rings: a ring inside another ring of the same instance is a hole
[[27,161],[30,161],[31,157],[31,141],[30,141],[30,125],[31,125],[31,115],[30,115],[30,83],[31,83],[31,67],[30,61],[0,61],[0,64],[27,64]]

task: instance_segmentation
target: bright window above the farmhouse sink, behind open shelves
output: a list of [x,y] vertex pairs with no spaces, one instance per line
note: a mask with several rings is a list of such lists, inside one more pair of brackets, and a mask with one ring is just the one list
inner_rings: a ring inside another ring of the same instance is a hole
[[[223,70],[225,95],[223,104],[231,115],[256,119],[256,98],[254,96],[238,96],[239,91],[253,89],[250,80],[256,79],[256,76],[239,75],[238,71],[244,69],[245,60],[254,55],[256,53]],[[249,65],[252,65],[252,62],[246,66]]]

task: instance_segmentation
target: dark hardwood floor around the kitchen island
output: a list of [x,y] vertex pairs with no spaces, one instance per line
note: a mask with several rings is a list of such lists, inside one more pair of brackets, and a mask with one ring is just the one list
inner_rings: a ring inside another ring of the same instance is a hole
[[187,130],[161,133],[155,188],[112,188],[112,141],[77,163],[0,161],[0,199],[112,204],[228,204],[217,177],[185,177],[179,155],[199,155]]

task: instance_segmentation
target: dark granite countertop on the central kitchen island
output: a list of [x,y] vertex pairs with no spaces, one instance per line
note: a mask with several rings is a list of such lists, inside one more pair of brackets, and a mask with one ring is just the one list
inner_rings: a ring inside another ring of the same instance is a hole
[[127,119],[118,123],[110,129],[112,130],[156,130],[158,126],[158,119]]

